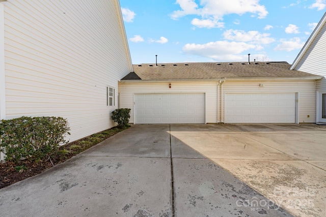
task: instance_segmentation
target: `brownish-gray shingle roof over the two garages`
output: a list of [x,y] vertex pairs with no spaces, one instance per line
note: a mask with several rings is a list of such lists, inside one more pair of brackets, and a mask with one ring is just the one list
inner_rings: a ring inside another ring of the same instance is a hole
[[220,78],[316,77],[290,70],[286,62],[176,63],[133,65],[134,72],[121,80],[200,80]]

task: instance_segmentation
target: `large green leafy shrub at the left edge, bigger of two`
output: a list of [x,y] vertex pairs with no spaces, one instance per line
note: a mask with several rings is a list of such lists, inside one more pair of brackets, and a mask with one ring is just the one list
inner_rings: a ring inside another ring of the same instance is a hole
[[49,160],[58,147],[67,143],[68,122],[62,117],[26,117],[0,121],[0,151],[5,160],[18,164]]

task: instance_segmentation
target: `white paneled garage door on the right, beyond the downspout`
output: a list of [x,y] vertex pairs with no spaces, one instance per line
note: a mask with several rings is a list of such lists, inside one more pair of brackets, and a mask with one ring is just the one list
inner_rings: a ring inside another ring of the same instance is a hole
[[295,93],[226,94],[226,123],[295,123]]

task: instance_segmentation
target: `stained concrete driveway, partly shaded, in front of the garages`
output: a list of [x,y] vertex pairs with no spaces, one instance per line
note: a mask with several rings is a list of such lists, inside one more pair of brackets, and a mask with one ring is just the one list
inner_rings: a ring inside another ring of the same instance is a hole
[[0,214],[325,216],[325,141],[316,125],[135,125],[1,189]]

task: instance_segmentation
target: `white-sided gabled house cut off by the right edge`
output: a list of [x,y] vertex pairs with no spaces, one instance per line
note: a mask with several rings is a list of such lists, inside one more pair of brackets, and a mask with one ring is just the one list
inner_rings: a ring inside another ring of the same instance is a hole
[[316,81],[316,122],[326,123],[326,13],[290,69],[323,76]]

